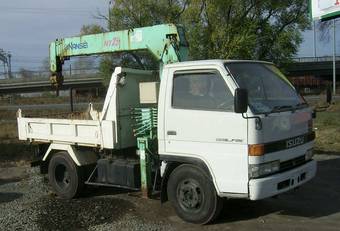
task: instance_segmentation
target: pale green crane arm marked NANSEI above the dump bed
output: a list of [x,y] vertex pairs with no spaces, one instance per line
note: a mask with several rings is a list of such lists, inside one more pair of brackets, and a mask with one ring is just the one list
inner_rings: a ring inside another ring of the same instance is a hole
[[187,60],[184,29],[174,24],[57,39],[50,44],[51,82],[62,84],[62,65],[73,56],[148,50],[163,64]]

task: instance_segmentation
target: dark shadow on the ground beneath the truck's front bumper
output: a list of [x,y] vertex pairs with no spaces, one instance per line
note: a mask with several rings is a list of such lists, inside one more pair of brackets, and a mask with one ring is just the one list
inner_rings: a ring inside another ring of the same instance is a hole
[[271,213],[307,218],[340,212],[340,159],[318,161],[316,177],[297,190],[262,201],[227,200],[217,223],[249,220]]

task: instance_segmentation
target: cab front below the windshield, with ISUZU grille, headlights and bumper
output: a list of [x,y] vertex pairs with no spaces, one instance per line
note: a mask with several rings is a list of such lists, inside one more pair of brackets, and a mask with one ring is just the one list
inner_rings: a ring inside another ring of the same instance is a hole
[[[261,118],[263,126],[261,130],[249,130],[249,140],[261,140],[249,144],[249,149],[261,147],[258,153],[248,151],[250,199],[258,200],[277,195],[300,186],[315,176],[316,162],[312,160],[315,134],[307,128],[309,119],[295,121],[296,127],[301,127],[303,124],[306,127],[300,130],[300,134],[295,134],[294,129],[290,128],[291,134],[287,131],[283,132],[281,138],[277,140],[272,140],[271,137],[277,138],[279,129],[277,131],[265,129],[280,117],[286,118],[287,121],[294,121],[292,118],[300,113],[305,112],[269,115]],[[249,124],[251,123],[255,121],[249,121]],[[249,126],[249,129],[251,127]],[[269,132],[273,135],[270,136]]]

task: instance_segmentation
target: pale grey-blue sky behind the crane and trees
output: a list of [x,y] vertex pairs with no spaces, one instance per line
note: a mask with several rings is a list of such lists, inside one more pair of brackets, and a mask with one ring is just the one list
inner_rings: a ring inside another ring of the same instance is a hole
[[[39,70],[48,57],[51,41],[77,35],[85,24],[105,25],[94,15],[98,12],[106,14],[108,6],[109,0],[0,0],[0,49],[11,52],[13,71],[20,68]],[[338,43],[340,20],[337,28]],[[317,31],[318,40],[319,35]],[[313,31],[304,32],[303,38],[297,56],[312,57]],[[317,56],[332,55],[332,36],[316,44]],[[337,50],[340,53],[340,46]]]

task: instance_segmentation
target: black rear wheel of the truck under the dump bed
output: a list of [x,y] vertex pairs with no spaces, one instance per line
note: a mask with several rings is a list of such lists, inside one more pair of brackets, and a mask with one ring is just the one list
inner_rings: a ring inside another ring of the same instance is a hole
[[63,199],[77,197],[84,187],[82,171],[67,152],[52,156],[48,165],[48,178],[55,193]]

